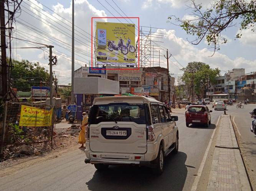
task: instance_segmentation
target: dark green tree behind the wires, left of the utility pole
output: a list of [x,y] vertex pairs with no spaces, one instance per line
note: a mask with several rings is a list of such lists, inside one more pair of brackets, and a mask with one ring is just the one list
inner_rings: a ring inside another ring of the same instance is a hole
[[21,91],[31,91],[31,86],[49,86],[50,74],[40,66],[39,62],[31,63],[28,60],[12,60],[11,71],[12,87]]

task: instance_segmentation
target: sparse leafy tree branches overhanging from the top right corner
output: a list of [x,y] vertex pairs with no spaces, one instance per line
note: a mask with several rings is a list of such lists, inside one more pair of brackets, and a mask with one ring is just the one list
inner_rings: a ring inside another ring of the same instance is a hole
[[[256,23],[256,0],[212,0],[209,8],[203,8],[202,4],[196,4],[190,0],[191,19],[174,18],[178,21],[187,34],[195,36],[192,44],[199,44],[207,40],[208,46],[215,50],[220,49],[220,44],[225,44],[227,39],[221,36],[228,28],[239,23],[240,32],[236,38],[241,38],[243,29],[255,30]],[[213,53],[214,54],[214,53]]]

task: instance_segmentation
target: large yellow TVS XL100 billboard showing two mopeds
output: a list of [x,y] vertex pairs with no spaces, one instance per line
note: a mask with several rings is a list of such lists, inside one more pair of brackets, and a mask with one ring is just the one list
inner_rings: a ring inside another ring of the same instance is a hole
[[135,65],[135,24],[96,22],[97,63]]

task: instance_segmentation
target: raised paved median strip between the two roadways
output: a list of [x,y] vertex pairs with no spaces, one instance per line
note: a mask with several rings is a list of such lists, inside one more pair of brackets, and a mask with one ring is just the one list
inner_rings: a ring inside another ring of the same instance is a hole
[[251,190],[230,115],[221,115],[207,190]]

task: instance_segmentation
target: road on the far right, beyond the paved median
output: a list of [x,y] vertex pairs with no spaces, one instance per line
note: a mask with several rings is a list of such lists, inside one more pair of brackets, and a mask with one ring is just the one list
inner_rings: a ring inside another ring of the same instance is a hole
[[256,104],[244,105],[243,109],[237,109],[236,104],[228,106],[227,113],[235,117],[235,123],[238,127],[236,136],[238,137],[239,147],[242,151],[244,162],[251,180],[253,189],[256,190],[256,136],[251,133],[251,115],[249,112],[256,108]]

